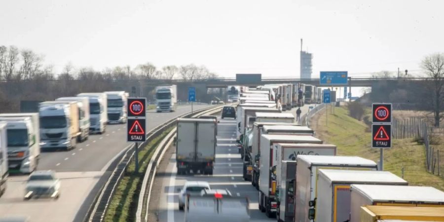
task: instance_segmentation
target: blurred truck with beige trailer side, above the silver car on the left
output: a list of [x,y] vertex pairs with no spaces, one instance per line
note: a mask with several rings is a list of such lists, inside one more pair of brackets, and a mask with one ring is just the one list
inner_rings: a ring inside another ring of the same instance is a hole
[[77,102],[48,101],[40,103],[40,148],[74,149],[79,131]]

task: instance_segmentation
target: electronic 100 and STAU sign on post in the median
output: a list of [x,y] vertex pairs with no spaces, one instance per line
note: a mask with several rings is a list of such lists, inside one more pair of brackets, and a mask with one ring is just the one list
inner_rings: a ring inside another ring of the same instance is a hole
[[136,142],[134,146],[134,161],[136,172],[139,173],[139,142],[147,140],[147,99],[128,98],[128,120],[126,122],[126,141]]

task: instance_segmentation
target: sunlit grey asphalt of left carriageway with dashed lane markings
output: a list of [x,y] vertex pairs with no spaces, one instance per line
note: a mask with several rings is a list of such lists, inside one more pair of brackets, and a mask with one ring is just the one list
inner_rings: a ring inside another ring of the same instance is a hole
[[[209,105],[194,105],[193,110]],[[176,112],[148,111],[148,131],[169,119],[191,111],[188,105]],[[24,201],[26,175],[8,178],[6,193],[0,198],[0,215],[29,216],[32,222],[82,221],[100,186],[106,182],[120,152],[130,146],[126,142],[126,124],[108,125],[102,135],[90,135],[70,151],[42,152],[38,170],[55,170],[61,179],[58,200]],[[98,183],[100,181],[100,183]]]

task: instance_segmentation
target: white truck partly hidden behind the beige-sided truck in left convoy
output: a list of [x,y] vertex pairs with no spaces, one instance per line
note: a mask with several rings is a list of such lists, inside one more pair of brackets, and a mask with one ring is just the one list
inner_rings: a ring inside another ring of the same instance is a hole
[[78,129],[80,135],[77,138],[78,142],[86,141],[89,136],[89,99],[88,97],[61,97],[55,101],[74,101],[77,102],[78,107]]

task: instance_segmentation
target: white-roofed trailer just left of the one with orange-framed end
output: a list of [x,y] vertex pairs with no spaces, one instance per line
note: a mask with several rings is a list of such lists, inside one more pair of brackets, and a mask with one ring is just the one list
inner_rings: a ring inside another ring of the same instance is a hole
[[295,222],[309,222],[309,211],[316,212],[320,169],[377,170],[374,161],[358,156],[298,155],[296,161]]

